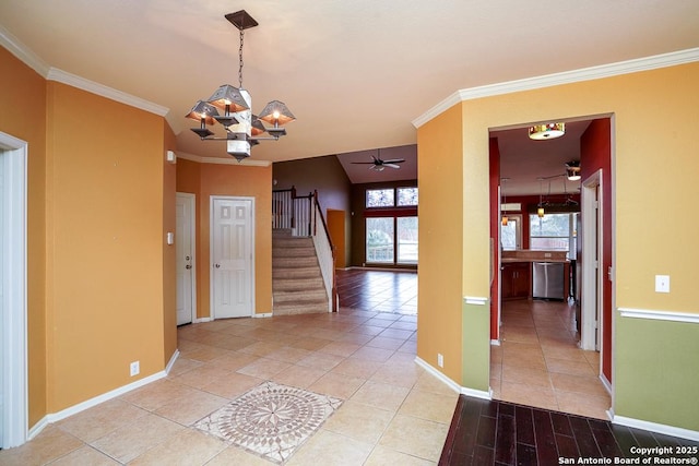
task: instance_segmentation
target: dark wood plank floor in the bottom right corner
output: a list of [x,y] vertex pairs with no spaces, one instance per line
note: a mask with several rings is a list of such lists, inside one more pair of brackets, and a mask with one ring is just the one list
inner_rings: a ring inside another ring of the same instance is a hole
[[[663,450],[664,454],[639,454],[635,447],[667,450]],[[696,465],[691,458],[699,458],[698,450],[699,442],[582,416],[461,395],[439,464],[644,464],[643,459],[651,458],[651,463],[645,464]],[[660,462],[655,462],[655,457]],[[670,463],[672,458],[687,458],[689,463]]]

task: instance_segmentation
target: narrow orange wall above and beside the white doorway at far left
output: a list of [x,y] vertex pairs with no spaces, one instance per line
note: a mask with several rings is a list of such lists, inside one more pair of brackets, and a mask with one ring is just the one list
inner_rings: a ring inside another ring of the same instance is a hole
[[[28,143],[27,347],[29,426],[46,415],[46,81],[0,47],[0,131]],[[9,111],[12,109],[12,111]]]

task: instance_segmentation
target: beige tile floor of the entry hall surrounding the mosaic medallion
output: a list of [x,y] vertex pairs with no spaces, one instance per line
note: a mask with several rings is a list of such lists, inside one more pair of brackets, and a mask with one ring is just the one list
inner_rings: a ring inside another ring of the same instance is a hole
[[192,425],[271,380],[344,401],[287,465],[434,465],[459,396],[415,365],[415,327],[414,314],[345,308],[186,325],[167,378],[46,427],[0,464],[269,465]]

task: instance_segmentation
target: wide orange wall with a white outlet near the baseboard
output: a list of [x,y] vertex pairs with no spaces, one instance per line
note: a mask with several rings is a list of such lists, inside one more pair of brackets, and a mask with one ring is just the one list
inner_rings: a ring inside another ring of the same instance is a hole
[[[163,369],[164,119],[47,85],[47,379],[56,413]],[[130,378],[137,360],[141,374]]]

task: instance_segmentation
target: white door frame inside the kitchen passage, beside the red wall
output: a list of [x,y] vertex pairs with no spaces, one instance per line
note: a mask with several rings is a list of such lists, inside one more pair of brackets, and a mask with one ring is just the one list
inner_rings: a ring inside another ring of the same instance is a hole
[[[604,346],[602,345],[604,312],[604,271],[603,261],[603,195],[602,169],[599,169],[582,182],[581,190],[581,215],[582,215],[582,292],[581,292],[581,319],[580,348],[585,350],[600,348],[600,359],[602,360]],[[599,194],[597,194],[599,193]],[[595,207],[596,202],[596,207]],[[594,252],[594,254],[593,254]],[[596,258],[596,259],[595,259]],[[597,262],[595,267],[595,261]],[[597,274],[595,277],[595,268]],[[597,291],[595,294],[595,290]],[[595,296],[596,295],[596,296]],[[599,322],[595,332],[596,311],[599,310]],[[595,335],[596,333],[596,335]],[[595,336],[596,344],[595,345]],[[602,365],[600,365],[602,373]]]

